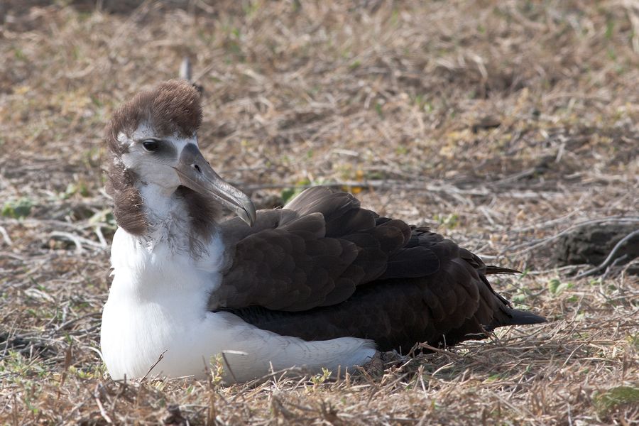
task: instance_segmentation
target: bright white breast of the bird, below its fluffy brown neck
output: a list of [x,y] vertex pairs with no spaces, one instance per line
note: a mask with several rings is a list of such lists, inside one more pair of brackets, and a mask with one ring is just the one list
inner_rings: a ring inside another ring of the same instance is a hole
[[[114,280],[102,314],[101,344],[114,378],[143,376],[163,351],[158,368],[180,364],[180,374],[204,368],[201,355],[189,359],[189,349],[206,320],[207,295],[219,283],[221,244],[214,239],[209,256],[197,261],[173,252],[165,241],[147,244],[118,229],[111,247]],[[197,365],[185,364],[194,361]]]

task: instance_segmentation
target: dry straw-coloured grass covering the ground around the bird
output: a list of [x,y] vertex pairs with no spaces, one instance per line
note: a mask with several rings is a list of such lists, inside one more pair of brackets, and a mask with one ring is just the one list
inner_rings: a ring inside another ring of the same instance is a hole
[[[571,226],[639,221],[633,2],[2,3],[0,424],[638,421],[637,277],[550,256]],[[344,185],[527,271],[496,288],[552,322],[339,381],[110,381],[102,128],[183,55],[205,155],[258,203]]]

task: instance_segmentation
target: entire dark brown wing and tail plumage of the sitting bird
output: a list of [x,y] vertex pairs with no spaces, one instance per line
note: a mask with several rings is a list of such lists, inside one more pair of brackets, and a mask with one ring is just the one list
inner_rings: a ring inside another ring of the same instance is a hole
[[545,321],[514,310],[486,279],[512,270],[488,270],[439,234],[378,217],[327,187],[258,212],[252,229],[231,219],[221,230],[229,263],[210,307],[278,334],[408,351]]

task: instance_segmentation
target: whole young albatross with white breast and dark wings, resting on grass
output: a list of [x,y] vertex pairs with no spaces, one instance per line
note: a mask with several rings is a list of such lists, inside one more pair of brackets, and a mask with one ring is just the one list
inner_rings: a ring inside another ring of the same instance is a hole
[[[101,349],[112,378],[151,367],[202,378],[214,359],[229,382],[293,366],[344,371],[379,351],[545,321],[513,309],[486,279],[514,271],[349,193],[312,187],[256,212],[200,153],[201,122],[200,94],[170,80],[136,94],[107,126],[119,227]],[[220,221],[223,209],[237,217]]]

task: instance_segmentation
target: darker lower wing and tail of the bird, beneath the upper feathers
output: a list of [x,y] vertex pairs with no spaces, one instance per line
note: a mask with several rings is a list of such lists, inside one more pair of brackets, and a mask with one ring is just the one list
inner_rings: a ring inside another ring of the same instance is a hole
[[[495,327],[535,324],[542,317],[513,310],[490,287],[479,258],[452,241],[425,229],[413,229],[406,249],[430,250],[439,261],[430,275],[401,278],[404,267],[416,275],[402,253],[386,275],[358,288],[348,300],[305,312],[283,312],[253,306],[231,310],[246,322],[285,336],[325,340],[351,336],[373,339],[383,351],[404,353],[415,343],[457,344],[485,337]],[[413,259],[414,252],[410,253]],[[392,278],[391,278],[392,275]]]

